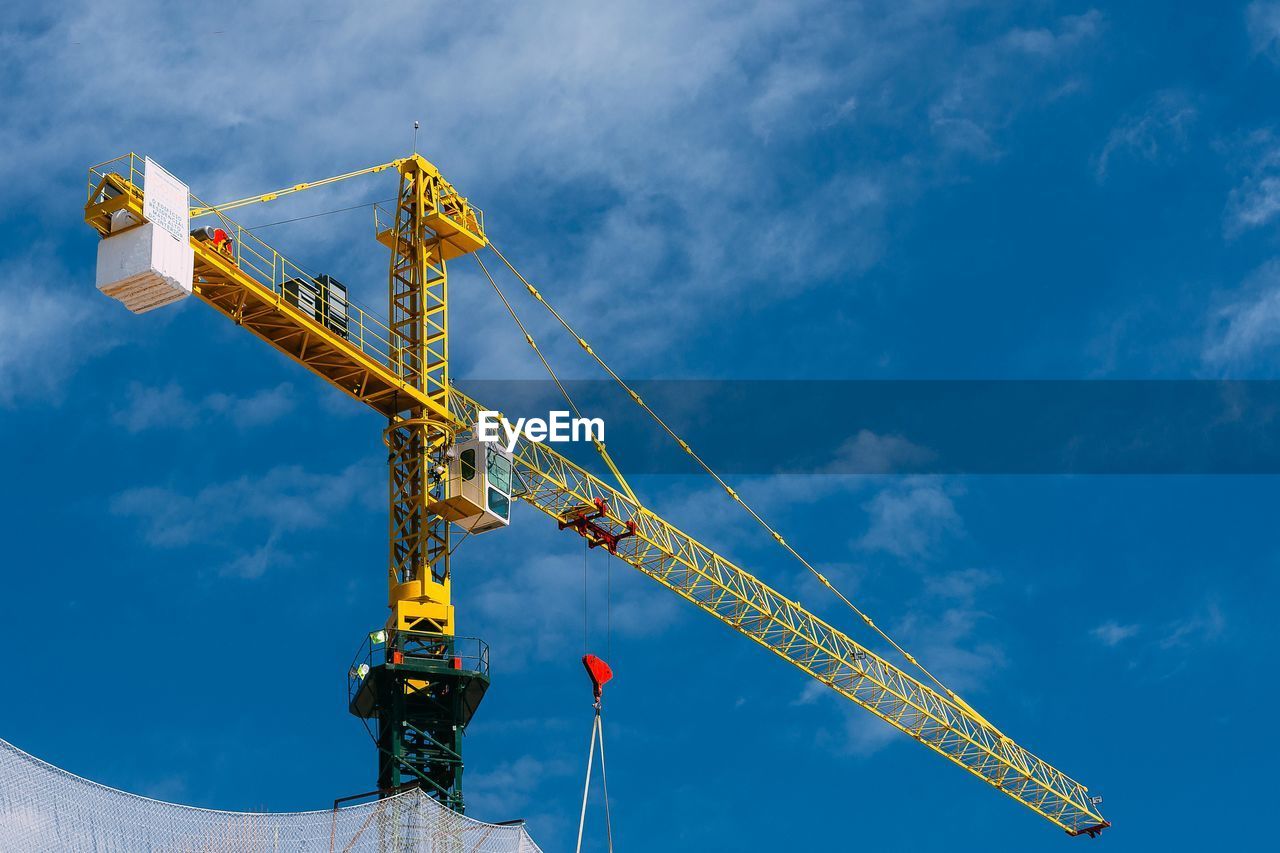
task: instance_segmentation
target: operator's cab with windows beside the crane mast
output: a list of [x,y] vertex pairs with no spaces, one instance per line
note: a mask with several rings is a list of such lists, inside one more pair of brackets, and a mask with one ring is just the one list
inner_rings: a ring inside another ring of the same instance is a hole
[[511,451],[498,442],[471,438],[456,443],[448,466],[438,471],[448,480],[444,497],[428,508],[470,533],[486,533],[511,524],[515,471]]

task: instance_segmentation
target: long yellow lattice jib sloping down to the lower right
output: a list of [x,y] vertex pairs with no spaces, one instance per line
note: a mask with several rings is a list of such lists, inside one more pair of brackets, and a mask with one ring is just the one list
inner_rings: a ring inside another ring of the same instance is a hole
[[[457,389],[452,405],[462,423],[484,409]],[[618,558],[1068,833],[1102,822],[1084,785],[545,443],[521,438],[515,461],[529,506],[566,519],[603,500]]]

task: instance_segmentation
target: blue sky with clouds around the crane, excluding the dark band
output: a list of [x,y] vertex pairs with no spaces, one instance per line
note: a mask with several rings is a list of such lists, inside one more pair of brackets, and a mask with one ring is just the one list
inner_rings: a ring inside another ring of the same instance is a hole
[[[9,9],[0,736],[77,774],[271,809],[374,775],[343,690],[385,612],[381,425],[195,300],[134,318],[95,292],[84,170],[128,150],[220,200],[402,155],[420,119],[503,251],[636,379],[1277,378],[1277,3],[366,5]],[[381,305],[367,210],[262,234]],[[457,374],[536,377],[475,270],[451,287]],[[705,482],[636,487],[829,611]],[[742,488],[1103,794],[1097,843],[1270,838],[1274,478]],[[618,672],[620,848],[1087,843],[607,565],[529,511],[460,551],[461,630],[495,675],[467,742],[477,817],[572,843],[586,573],[588,644]]]

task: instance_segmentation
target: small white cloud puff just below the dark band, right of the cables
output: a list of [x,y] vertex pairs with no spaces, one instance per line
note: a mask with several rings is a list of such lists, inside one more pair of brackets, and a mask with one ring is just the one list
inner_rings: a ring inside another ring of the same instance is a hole
[[941,480],[908,476],[863,505],[870,525],[860,544],[896,557],[928,558],[948,535],[963,530],[960,515]]

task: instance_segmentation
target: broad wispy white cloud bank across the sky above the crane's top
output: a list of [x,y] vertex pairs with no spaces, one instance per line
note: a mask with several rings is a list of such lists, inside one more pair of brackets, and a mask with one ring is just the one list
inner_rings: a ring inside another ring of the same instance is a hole
[[[19,73],[0,140],[28,156],[0,164],[0,177],[35,216],[60,222],[81,193],[68,164],[134,149],[218,201],[399,155],[421,118],[421,149],[486,209],[498,245],[626,368],[744,293],[771,305],[877,263],[884,213],[920,192],[922,159],[868,168],[849,158],[832,174],[796,174],[785,141],[867,120],[922,138],[936,129],[946,146],[998,146],[998,129],[1042,85],[1061,88],[1057,70],[1015,72],[1032,60],[1048,68],[1047,56],[1060,60],[1098,26],[1087,13],[974,49],[954,27],[966,13],[934,3],[579,0],[476,18],[448,5],[428,14],[397,0],[319,0],[302,18],[285,4],[225,9],[223,35],[195,37],[210,27],[195,6],[154,0],[120,15],[73,0],[27,10],[23,36],[4,41]],[[380,56],[396,56],[394,72]],[[924,115],[957,68],[979,67],[960,100]],[[129,85],[104,68],[127,68]],[[467,85],[424,85],[444,68],[465,68]],[[212,90],[236,95],[198,95]],[[95,132],[68,129],[77,127]],[[385,195],[370,186],[296,204],[312,211]],[[562,213],[581,197],[585,207]],[[287,246],[315,263],[347,259],[358,242],[310,224],[298,233]],[[380,275],[356,278],[367,279],[353,284],[357,296],[380,291]],[[631,298],[655,288],[678,293],[682,310]],[[488,332],[499,324],[485,313],[477,334],[457,339],[460,370],[494,364]],[[616,334],[636,328],[645,334]],[[573,351],[539,338],[552,355]]]

